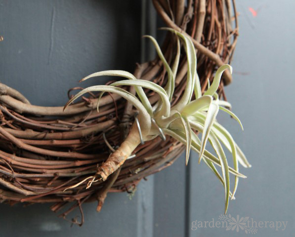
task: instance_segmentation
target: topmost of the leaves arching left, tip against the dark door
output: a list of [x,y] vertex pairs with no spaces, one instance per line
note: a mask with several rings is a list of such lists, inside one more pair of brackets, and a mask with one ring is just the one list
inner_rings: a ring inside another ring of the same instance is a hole
[[[102,71],[102,72],[90,74],[89,76],[81,79],[79,82],[84,81],[89,78],[101,77],[101,76],[123,77],[123,78],[130,79],[130,80],[136,80],[136,78],[131,73],[128,73],[126,71],[109,70],[109,71]],[[135,86],[135,91],[138,94],[138,97],[140,98],[140,100],[141,100],[143,106],[146,108],[147,112],[150,114],[150,116],[152,116],[153,115],[152,106],[151,106],[146,94],[144,93],[143,89],[139,86]],[[103,95],[103,93],[100,94],[99,99],[102,97],[102,95]],[[98,106],[97,106],[97,108],[98,108]]]

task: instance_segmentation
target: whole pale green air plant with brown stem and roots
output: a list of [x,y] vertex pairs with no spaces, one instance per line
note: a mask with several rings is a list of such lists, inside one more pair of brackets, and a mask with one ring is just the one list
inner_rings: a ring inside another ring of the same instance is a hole
[[[91,183],[98,180],[105,181],[109,175],[115,172],[125,162],[127,158],[130,158],[131,153],[142,141],[152,140],[159,135],[163,138],[165,135],[169,135],[186,146],[186,164],[189,160],[190,150],[193,149],[199,153],[199,163],[203,160],[220,180],[225,190],[226,213],[230,197],[231,199],[234,199],[239,178],[246,178],[245,175],[239,173],[239,163],[244,167],[251,167],[230,133],[215,119],[218,111],[222,110],[228,113],[232,118],[236,119],[243,129],[239,118],[225,108],[230,108],[231,105],[226,101],[219,100],[216,93],[222,73],[227,69],[232,73],[232,67],[225,64],[218,68],[212,84],[208,85],[207,91],[202,95],[200,80],[197,74],[196,50],[192,41],[185,35],[176,32],[173,29],[165,29],[173,32],[177,39],[177,53],[172,68],[170,68],[166,61],[157,41],[151,36],[145,36],[152,40],[167,71],[168,80],[164,88],[151,81],[136,79],[132,74],[126,71],[103,71],[91,74],[81,81],[99,76],[118,76],[126,78],[126,80],[117,81],[110,85],[95,85],[85,88],[71,98],[64,107],[65,109],[84,93],[101,91],[102,93],[99,99],[103,92],[116,93],[129,101],[129,103],[131,103],[138,111],[137,118],[140,124],[141,133],[139,133],[138,126],[134,122],[126,140],[121,146],[113,152],[100,167],[98,167],[95,176],[90,176],[85,179],[90,179],[87,187],[90,187]],[[175,76],[180,57],[180,41],[184,46],[188,62],[186,87],[180,100],[171,107],[170,103],[174,93]],[[138,98],[119,86],[134,86]],[[151,105],[143,88],[150,89],[159,95],[160,99],[154,106]],[[194,100],[192,100],[193,94]],[[99,100],[97,110],[98,107]],[[202,134],[201,139],[197,136],[197,132]],[[205,149],[207,141],[211,143],[217,157]],[[228,166],[227,158],[225,157],[221,143],[232,154],[233,167]],[[215,165],[221,167],[222,175],[219,174]],[[235,184],[232,192],[230,192],[229,173],[232,173],[235,177]],[[70,188],[77,187],[77,185]]]

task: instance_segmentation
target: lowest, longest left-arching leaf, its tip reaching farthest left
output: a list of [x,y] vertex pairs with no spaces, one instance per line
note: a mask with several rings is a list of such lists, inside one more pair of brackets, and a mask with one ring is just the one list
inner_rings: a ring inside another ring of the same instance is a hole
[[94,85],[87,87],[83,90],[81,90],[79,93],[77,93],[73,98],[71,98],[67,104],[64,106],[64,110],[68,107],[69,104],[71,104],[74,100],[76,100],[78,97],[82,96],[85,93],[88,93],[90,91],[103,91],[103,92],[111,92],[118,94],[122,96],[124,99],[129,101],[138,111],[139,116],[142,119],[142,122],[144,122],[145,126],[142,127],[142,133],[148,133],[151,128],[151,117],[145,107],[142,105],[142,103],[131,93],[128,91],[118,88],[111,85]]

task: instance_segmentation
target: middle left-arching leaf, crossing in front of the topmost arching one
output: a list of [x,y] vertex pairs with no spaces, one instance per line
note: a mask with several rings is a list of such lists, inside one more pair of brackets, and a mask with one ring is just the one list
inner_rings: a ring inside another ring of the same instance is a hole
[[168,98],[166,91],[160,85],[158,85],[154,82],[148,81],[148,80],[120,80],[120,81],[112,83],[111,85],[113,85],[113,86],[118,86],[118,85],[141,86],[141,87],[145,87],[145,88],[148,88],[150,90],[157,92],[163,101],[163,106],[162,106],[161,110],[158,112],[159,116],[160,117],[162,117],[162,116],[168,117],[169,116],[169,114],[170,114],[169,98]]

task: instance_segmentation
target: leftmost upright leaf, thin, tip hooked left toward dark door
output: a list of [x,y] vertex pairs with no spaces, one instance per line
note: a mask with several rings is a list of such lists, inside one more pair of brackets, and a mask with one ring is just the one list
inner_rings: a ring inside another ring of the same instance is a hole
[[174,83],[174,78],[173,78],[173,72],[172,72],[168,62],[166,61],[157,40],[155,40],[155,38],[152,37],[152,36],[143,36],[143,38],[148,38],[148,39],[152,40],[152,42],[153,42],[153,44],[154,44],[154,46],[156,48],[156,51],[157,51],[161,61],[163,62],[164,66],[165,66],[165,69],[166,69],[167,74],[168,74],[168,82],[167,82],[167,85],[165,86],[165,88],[166,88],[166,91],[167,91],[167,95],[169,97],[169,101],[171,101],[172,95],[173,95],[173,92],[174,92],[174,84],[175,84]]

